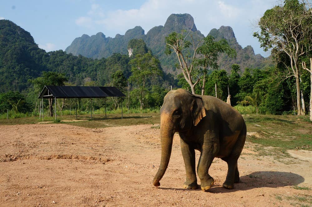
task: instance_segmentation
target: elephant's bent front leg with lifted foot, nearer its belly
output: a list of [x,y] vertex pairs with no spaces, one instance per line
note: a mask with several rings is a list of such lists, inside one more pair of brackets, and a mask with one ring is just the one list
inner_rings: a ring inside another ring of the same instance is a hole
[[197,172],[201,182],[202,190],[209,190],[214,184],[214,179],[208,174],[209,167],[219,151],[218,139],[209,139],[202,145],[201,155],[198,161]]

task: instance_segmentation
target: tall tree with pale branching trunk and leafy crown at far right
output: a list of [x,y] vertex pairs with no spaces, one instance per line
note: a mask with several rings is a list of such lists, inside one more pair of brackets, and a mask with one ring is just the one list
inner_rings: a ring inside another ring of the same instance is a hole
[[[284,5],[278,5],[267,10],[259,21],[260,32],[255,32],[264,51],[271,50],[272,55],[281,61],[288,74],[285,77],[295,77],[298,115],[303,114],[300,94],[299,58],[311,50],[307,36],[312,32],[312,13],[305,3],[298,0],[285,0]],[[283,55],[288,58],[281,58]]]

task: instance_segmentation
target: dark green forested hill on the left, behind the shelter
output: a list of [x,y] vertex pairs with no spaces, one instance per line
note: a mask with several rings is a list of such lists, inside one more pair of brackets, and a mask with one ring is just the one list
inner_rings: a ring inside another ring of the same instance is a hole
[[94,60],[62,50],[46,52],[28,31],[9,20],[0,20],[0,93],[28,89],[28,80],[41,76],[42,71],[64,73],[74,85],[105,85],[116,70],[129,77],[128,62],[128,55],[118,53]]

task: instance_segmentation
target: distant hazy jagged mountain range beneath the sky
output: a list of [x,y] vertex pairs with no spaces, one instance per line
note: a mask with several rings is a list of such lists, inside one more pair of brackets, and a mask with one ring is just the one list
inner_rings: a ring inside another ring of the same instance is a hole
[[[130,39],[143,39],[147,47],[160,60],[163,70],[166,73],[177,75],[180,72],[176,71],[174,66],[177,62],[175,54],[167,56],[164,53],[166,46],[165,36],[168,36],[173,31],[180,33],[181,30],[186,30],[187,32],[192,30],[190,35],[195,40],[204,37],[197,30],[194,19],[190,14],[171,14],[164,26],[155,26],[146,34],[144,34],[141,26],[129,29],[124,35],[117,34],[114,38],[106,37],[102,32],[92,36],[84,34],[81,37],[77,37],[65,51],[73,55],[83,55],[89,58],[109,57],[113,53],[128,54],[128,41]],[[212,35],[216,40],[225,38],[230,46],[236,49],[237,57],[235,60],[232,60],[227,55],[220,56],[218,61],[220,69],[225,69],[229,72],[231,65],[234,63],[239,64],[242,70],[246,67],[260,68],[266,64],[266,59],[260,54],[255,55],[251,46],[242,48],[238,44],[230,26],[221,26],[219,29],[212,29],[208,35]]]

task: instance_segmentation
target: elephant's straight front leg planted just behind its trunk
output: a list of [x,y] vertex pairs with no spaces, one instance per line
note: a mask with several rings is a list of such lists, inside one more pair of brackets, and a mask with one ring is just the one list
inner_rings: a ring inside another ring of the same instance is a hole
[[197,178],[195,171],[195,150],[190,147],[181,138],[181,151],[185,164],[186,181],[183,183],[183,187],[187,189],[197,189]]

